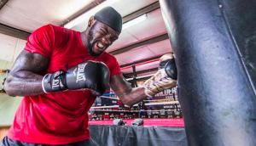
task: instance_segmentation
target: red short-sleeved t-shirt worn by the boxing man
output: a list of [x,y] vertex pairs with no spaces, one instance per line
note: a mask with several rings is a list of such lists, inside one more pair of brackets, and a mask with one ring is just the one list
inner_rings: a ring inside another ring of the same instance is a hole
[[[110,76],[120,74],[117,60],[108,53],[90,57],[79,31],[45,25],[28,37],[25,50],[41,53],[50,59],[46,73],[65,70],[86,60],[102,61]],[[8,137],[26,143],[64,144],[90,138],[88,110],[94,97],[87,91],[67,91],[26,96],[20,103]]]

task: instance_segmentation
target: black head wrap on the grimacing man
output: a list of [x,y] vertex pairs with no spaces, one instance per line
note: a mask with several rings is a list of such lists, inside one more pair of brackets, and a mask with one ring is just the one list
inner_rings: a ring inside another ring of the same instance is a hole
[[105,25],[108,25],[114,31],[121,33],[122,16],[112,7],[102,8],[94,15],[94,18]]

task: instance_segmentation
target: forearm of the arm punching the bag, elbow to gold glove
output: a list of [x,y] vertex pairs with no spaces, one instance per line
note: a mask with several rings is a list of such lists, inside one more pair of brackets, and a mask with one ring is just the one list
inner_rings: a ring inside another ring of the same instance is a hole
[[137,104],[140,101],[142,101],[144,98],[148,97],[144,93],[144,91],[145,91],[144,87],[132,88],[130,92],[120,95],[119,98],[124,104],[128,106],[132,106],[133,104]]

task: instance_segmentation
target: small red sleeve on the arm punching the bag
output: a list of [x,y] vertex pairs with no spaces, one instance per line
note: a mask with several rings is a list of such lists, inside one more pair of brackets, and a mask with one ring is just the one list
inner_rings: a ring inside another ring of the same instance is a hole
[[109,62],[108,62],[108,69],[110,71],[110,76],[118,75],[121,74],[121,70],[119,67],[119,63],[117,59],[115,59],[114,56],[109,54]]

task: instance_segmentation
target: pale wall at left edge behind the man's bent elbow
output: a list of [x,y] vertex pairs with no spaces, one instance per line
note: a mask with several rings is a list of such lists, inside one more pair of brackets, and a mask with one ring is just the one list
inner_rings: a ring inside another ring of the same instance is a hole
[[[0,33],[0,69],[10,70],[25,45],[26,40]],[[4,77],[6,75],[0,73],[0,89],[3,89]],[[14,98],[5,93],[0,93],[0,125],[12,125],[21,100],[22,97]]]

